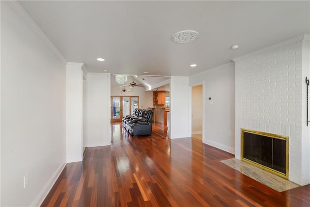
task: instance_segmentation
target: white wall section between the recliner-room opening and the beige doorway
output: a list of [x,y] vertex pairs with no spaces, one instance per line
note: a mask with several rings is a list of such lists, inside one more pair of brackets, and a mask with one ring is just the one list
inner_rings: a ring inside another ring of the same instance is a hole
[[188,77],[171,76],[170,138],[191,137],[191,87]]

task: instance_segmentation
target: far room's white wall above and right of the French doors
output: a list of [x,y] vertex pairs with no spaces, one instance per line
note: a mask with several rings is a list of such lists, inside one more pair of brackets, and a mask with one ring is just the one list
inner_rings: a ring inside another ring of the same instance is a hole
[[[129,85],[132,81],[132,77],[128,76],[125,85]],[[140,84],[137,80],[136,83]],[[123,85],[123,84],[122,84]],[[111,96],[139,96],[139,108],[147,109],[148,107],[152,108],[153,106],[153,91],[145,91],[145,87],[134,87],[130,88],[125,87],[126,90],[132,90],[132,92],[121,92],[123,87],[120,87],[115,81],[115,76],[111,75]]]

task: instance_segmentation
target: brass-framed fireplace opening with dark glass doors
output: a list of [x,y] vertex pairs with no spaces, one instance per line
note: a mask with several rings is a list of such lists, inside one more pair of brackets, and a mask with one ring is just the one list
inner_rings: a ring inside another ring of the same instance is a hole
[[241,159],[288,179],[288,137],[242,128]]

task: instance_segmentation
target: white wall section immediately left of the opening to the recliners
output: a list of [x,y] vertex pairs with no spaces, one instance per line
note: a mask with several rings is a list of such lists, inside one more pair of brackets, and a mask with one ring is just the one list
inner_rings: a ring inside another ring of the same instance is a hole
[[88,73],[84,80],[83,145],[111,144],[110,74]]

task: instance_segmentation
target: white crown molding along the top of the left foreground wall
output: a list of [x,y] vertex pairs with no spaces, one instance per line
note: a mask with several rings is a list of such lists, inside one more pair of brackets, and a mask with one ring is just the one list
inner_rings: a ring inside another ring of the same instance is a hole
[[57,57],[67,64],[67,60],[63,57],[62,53],[52,44],[47,35],[42,32],[38,25],[27,14],[23,7],[16,0],[6,0],[8,5],[25,21],[25,23],[47,44],[47,46],[57,55]]

